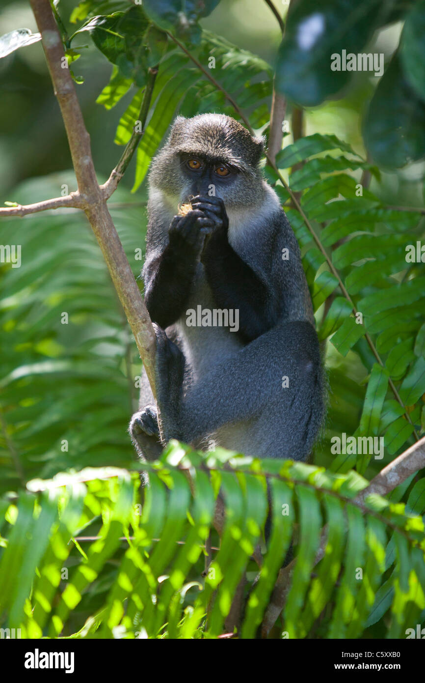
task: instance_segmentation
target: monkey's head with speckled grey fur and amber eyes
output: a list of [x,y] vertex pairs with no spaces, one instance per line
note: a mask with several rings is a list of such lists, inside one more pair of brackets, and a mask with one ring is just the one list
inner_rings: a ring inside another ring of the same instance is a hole
[[259,204],[264,182],[259,161],[263,138],[224,114],[178,116],[164,148],[151,164],[149,181],[184,204],[190,196],[216,195],[226,208]]

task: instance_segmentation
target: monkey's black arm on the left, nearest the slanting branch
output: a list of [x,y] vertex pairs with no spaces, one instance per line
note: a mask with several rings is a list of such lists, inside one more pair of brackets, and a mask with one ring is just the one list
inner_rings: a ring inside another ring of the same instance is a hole
[[147,258],[143,268],[145,304],[153,322],[163,329],[186,308],[207,225],[209,219],[201,211],[175,216],[165,247],[154,248]]

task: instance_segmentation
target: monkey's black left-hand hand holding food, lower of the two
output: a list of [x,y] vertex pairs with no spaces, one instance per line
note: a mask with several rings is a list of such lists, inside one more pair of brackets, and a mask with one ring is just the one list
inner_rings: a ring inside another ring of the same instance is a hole
[[185,216],[175,216],[168,228],[168,237],[173,251],[183,251],[187,256],[192,253],[199,256],[205,235],[211,232],[211,219],[199,210],[188,212]]

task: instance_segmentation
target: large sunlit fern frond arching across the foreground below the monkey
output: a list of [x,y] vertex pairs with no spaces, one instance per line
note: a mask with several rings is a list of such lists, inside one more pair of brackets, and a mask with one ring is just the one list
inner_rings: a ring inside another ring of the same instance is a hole
[[[33,480],[18,501],[2,503],[0,613],[9,611],[8,628],[32,638],[219,637],[248,568],[248,576],[258,576],[241,637],[252,638],[291,541],[299,560],[283,614],[287,637],[358,637],[366,619],[373,623],[383,604],[390,606],[379,589],[383,572],[385,596],[393,596],[388,637],[404,635],[420,617],[425,535],[417,510],[425,505],[423,482],[419,497],[419,487],[412,492],[411,508],[373,497],[363,516],[349,501],[366,482],[353,473],[220,450],[201,456],[176,442],[149,471],[143,505],[138,477],[115,468]],[[251,556],[267,515],[266,476],[272,531],[256,570]],[[203,546],[219,489],[226,521],[204,577]],[[325,523],[327,553],[310,581]],[[78,542],[83,529],[93,534],[89,545]],[[331,598],[333,609],[318,624]]]

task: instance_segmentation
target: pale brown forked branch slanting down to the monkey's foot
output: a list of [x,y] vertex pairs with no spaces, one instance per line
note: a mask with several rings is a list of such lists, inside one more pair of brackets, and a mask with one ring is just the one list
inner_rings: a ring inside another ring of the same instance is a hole
[[[104,190],[98,184],[96,171],[91,156],[90,137],[85,128],[83,113],[78,103],[74,83],[70,76],[63,53],[63,45],[53,12],[50,8],[49,0],[30,0],[38,30],[42,34],[42,45],[53,88],[65,125],[72,163],[78,184],[78,194],[74,194],[81,204],[78,208],[83,208],[93,232],[98,240],[98,244],[106,265],[108,266],[115,289],[121,301],[121,305],[126,313],[127,320],[132,329],[137,348],[141,354],[141,359],[145,365],[149,383],[153,395],[155,395],[155,376],[153,372],[155,364],[156,337],[153,332],[149,313],[143,303],[141,294],[138,290],[136,280],[132,274],[125,252],[119,240],[119,236],[111,219],[106,206]],[[151,74],[153,77],[153,74]],[[149,100],[150,101],[150,100]],[[147,100],[144,98],[145,104]],[[140,137],[138,137],[140,139]],[[134,145],[134,141],[132,143]],[[135,147],[134,147],[135,149]],[[134,149],[132,150],[134,152]],[[124,155],[123,155],[124,156]],[[131,157],[130,157],[131,158]],[[122,157],[117,167],[128,163],[127,157],[122,161]],[[122,161],[122,163],[121,163]],[[115,182],[115,180],[114,180]],[[117,179],[117,184],[119,178]],[[106,192],[107,194],[107,192]],[[71,195],[70,195],[71,196]],[[110,195],[108,195],[110,196]],[[63,199],[67,199],[63,197]],[[51,200],[56,201],[56,200]],[[40,204],[45,205],[45,202]],[[35,205],[40,207],[40,204]],[[64,201],[57,206],[67,206]],[[68,206],[74,206],[68,204]],[[17,207],[19,209],[19,207]],[[55,208],[50,204],[37,208]],[[13,211],[13,210],[12,210]],[[27,211],[29,212],[29,211]],[[2,215],[5,215],[2,212]],[[8,215],[19,215],[17,212]]]

